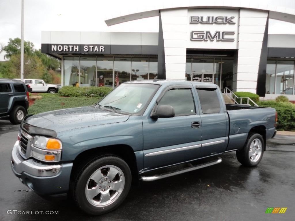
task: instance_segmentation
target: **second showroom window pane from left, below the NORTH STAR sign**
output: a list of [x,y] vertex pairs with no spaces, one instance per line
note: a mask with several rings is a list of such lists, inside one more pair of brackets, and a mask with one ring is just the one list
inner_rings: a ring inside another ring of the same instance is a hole
[[80,59],[80,87],[95,86],[96,57]]

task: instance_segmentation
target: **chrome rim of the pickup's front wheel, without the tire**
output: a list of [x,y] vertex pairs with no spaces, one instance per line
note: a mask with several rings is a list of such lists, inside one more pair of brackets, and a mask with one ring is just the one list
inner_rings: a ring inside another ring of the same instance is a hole
[[125,177],[119,167],[102,166],[91,174],[86,183],[86,199],[95,207],[108,206],[122,194],[124,184]]

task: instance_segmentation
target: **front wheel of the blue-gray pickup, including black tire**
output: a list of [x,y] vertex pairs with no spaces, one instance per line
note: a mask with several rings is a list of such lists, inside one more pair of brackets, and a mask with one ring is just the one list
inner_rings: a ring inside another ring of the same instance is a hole
[[91,160],[75,178],[73,198],[90,215],[101,215],[117,208],[131,186],[128,164],[113,155]]

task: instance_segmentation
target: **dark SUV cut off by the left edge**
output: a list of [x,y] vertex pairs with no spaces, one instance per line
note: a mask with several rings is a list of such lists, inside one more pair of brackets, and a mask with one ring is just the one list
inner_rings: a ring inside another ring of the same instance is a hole
[[24,82],[0,78],[0,117],[20,124],[27,115],[29,92]]

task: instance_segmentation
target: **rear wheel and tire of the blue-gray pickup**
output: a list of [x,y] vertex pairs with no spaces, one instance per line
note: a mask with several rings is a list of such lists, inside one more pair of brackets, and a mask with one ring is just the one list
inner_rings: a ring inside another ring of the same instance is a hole
[[258,133],[248,136],[244,148],[236,151],[237,160],[244,166],[254,167],[259,164],[264,152],[264,139]]

